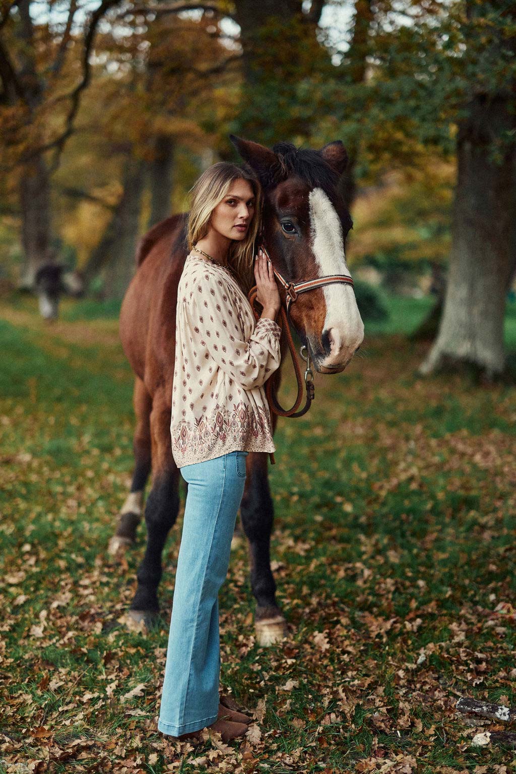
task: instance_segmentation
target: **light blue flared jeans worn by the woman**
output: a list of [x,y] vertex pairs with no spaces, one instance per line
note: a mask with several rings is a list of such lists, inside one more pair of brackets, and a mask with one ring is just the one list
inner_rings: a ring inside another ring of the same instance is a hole
[[188,483],[177,560],[159,731],[179,736],[217,720],[218,594],[244,493],[247,451],[180,468]]

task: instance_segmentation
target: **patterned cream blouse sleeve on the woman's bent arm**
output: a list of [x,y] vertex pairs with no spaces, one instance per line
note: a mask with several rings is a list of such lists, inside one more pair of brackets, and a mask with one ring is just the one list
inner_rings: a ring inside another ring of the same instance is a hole
[[[281,328],[261,317],[248,341],[241,338],[237,312],[224,283],[194,281],[185,304],[189,327],[217,365],[244,389],[261,387],[279,368]],[[212,321],[213,320],[213,321]]]

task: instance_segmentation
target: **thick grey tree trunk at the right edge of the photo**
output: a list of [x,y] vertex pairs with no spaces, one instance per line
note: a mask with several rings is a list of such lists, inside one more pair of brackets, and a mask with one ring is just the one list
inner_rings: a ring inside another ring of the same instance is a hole
[[421,372],[473,365],[488,378],[504,371],[504,312],[516,248],[516,143],[490,158],[514,127],[510,98],[474,98],[457,142],[453,243],[443,318]]

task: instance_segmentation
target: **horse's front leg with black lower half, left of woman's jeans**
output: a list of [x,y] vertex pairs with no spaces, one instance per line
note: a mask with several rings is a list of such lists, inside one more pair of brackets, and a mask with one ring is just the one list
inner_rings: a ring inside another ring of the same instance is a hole
[[151,412],[152,488],[145,505],[147,544],[138,568],[138,587],[129,615],[149,625],[159,614],[158,586],[162,550],[179,511],[179,470],[172,456],[170,403],[155,394]]

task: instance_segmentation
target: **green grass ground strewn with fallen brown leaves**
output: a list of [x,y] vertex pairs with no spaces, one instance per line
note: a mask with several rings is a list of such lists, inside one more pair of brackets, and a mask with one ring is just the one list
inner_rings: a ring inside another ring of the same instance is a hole
[[[389,306],[362,358],[316,376],[310,413],[279,422],[272,560],[289,633],[256,644],[241,546],[220,594],[222,680],[261,721],[229,748],[155,729],[181,519],[162,625],[125,625],[144,529],[108,557],[132,471],[116,319],[0,309],[0,772],[511,769],[510,745],[473,747],[484,729],[454,705],[516,700],[514,388],[419,378],[424,346],[402,334],[428,306]],[[511,308],[508,342],[515,329]]]

